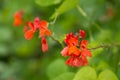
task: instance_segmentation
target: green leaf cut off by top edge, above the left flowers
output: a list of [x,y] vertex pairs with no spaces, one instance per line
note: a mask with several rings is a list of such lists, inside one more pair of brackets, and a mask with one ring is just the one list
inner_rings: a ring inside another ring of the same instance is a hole
[[62,0],[35,0],[35,2],[40,6],[50,6],[54,4],[59,4]]

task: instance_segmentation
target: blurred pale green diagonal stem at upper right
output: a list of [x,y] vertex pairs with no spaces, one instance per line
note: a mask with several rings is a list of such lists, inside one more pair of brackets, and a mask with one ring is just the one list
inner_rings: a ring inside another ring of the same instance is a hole
[[79,5],[77,5],[76,7],[78,11],[82,14],[82,16],[84,16],[87,20],[89,20],[96,28],[98,28],[98,30],[102,31],[100,25],[95,23]]

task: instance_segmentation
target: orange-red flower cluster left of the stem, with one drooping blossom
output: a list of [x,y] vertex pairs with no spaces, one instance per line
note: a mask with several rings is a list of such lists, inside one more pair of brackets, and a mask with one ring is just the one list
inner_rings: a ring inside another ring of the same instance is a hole
[[41,38],[43,52],[48,50],[48,44],[45,37],[51,35],[51,31],[47,27],[48,22],[45,20],[40,21],[38,17],[34,19],[34,22],[28,22],[27,26],[24,27],[24,37],[27,40],[32,39],[34,33],[39,30],[39,37]]

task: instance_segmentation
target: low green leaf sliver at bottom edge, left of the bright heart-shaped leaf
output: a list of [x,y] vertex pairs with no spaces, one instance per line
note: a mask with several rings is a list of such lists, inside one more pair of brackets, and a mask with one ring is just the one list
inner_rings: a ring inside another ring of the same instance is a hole
[[57,76],[53,80],[73,80],[74,76],[75,76],[75,74],[73,72],[66,72],[66,73],[63,73],[63,74]]

